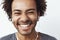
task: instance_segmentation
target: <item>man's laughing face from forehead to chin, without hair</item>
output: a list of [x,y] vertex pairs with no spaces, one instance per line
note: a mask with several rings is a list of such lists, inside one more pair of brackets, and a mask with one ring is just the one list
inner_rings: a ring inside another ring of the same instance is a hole
[[20,34],[30,34],[38,20],[34,0],[14,0],[12,2],[12,22]]

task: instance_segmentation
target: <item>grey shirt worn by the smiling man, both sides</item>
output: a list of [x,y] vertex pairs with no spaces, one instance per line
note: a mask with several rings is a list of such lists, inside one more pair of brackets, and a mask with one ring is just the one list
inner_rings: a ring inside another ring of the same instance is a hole
[[[44,33],[39,33],[39,34],[40,34],[41,40],[57,40],[56,38],[49,36],[47,34],[44,34]],[[17,38],[16,38],[15,33],[13,33],[13,34],[9,34],[5,37],[0,38],[0,40],[17,40]]]

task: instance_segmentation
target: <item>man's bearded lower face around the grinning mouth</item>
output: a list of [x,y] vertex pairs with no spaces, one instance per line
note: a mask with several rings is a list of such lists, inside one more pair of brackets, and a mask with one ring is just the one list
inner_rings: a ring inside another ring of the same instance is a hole
[[37,20],[31,21],[13,21],[13,24],[17,31],[22,35],[28,35],[31,34],[33,31],[35,31],[35,26],[37,24]]

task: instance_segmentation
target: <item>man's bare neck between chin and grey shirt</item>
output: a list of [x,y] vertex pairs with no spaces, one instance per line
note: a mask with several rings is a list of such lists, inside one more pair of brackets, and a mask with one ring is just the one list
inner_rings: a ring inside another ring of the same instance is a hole
[[37,32],[34,31],[28,35],[21,35],[19,32],[16,33],[17,40],[35,40]]

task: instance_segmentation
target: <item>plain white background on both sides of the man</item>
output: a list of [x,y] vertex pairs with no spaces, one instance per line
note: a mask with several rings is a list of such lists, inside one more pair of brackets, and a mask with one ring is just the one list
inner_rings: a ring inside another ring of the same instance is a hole
[[[40,17],[36,30],[51,35],[60,40],[60,0],[46,0],[47,11]],[[7,14],[2,10],[0,0],[0,37],[16,32]]]

